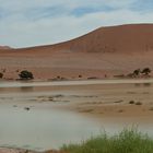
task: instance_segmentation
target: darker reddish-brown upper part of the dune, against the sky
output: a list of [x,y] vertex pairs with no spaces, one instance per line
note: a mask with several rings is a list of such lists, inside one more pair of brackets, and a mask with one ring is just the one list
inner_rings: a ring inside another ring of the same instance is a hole
[[150,51],[153,50],[153,24],[129,24],[101,27],[72,40],[16,50],[31,50],[33,52],[42,49],[44,49],[44,51],[67,50],[85,52]]

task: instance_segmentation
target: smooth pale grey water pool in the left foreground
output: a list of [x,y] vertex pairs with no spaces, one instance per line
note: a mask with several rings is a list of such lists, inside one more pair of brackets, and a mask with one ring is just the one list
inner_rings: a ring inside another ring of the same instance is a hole
[[0,108],[0,145],[47,150],[78,142],[99,132],[97,122],[73,113],[19,105]]

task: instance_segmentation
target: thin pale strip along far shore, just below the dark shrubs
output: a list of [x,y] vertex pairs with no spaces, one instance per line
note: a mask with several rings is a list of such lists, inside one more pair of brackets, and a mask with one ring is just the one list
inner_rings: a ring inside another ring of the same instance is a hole
[[0,87],[21,86],[70,86],[70,85],[99,85],[99,84],[140,84],[153,83],[153,79],[103,79],[103,80],[74,80],[74,81],[1,81]]

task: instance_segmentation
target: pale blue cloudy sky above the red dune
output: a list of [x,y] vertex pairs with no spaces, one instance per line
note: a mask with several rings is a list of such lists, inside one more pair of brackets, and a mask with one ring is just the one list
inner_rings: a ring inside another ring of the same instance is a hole
[[153,23],[153,0],[0,0],[0,45],[55,44],[101,26]]

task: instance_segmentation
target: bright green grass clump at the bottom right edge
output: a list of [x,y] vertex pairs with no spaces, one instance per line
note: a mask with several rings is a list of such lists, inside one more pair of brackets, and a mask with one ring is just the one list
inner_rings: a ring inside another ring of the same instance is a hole
[[61,150],[68,153],[152,153],[153,140],[131,129],[113,137],[104,133],[82,144],[63,145]]

